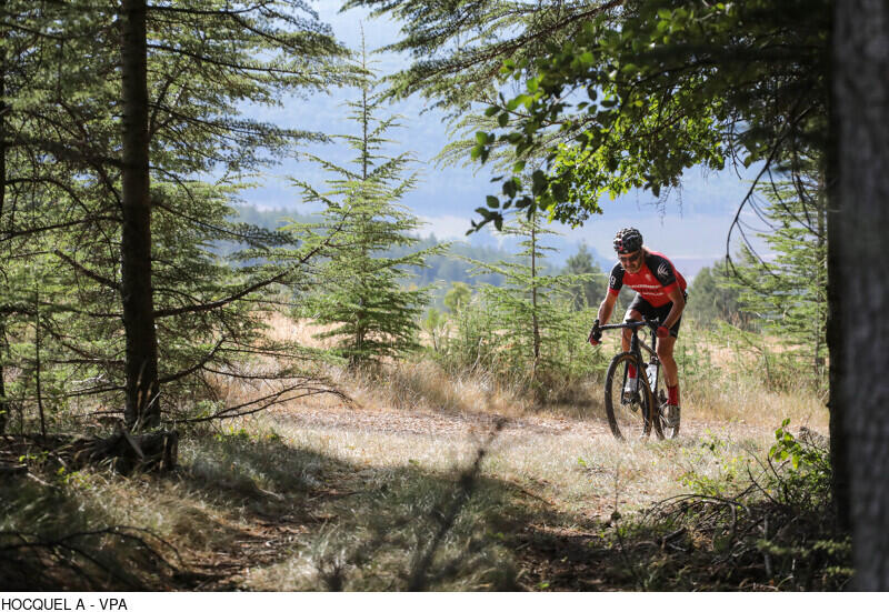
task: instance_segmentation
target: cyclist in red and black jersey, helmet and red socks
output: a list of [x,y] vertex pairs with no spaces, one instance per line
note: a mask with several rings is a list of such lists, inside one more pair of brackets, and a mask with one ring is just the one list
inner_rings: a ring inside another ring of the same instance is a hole
[[[662,253],[642,245],[642,234],[636,228],[625,228],[615,235],[615,251],[619,261],[611,270],[608,292],[599,307],[599,318],[593,322],[593,328],[608,322],[621,287],[626,284],[637,291],[627,309],[626,320],[641,321],[646,317],[657,318],[661,322],[657,330],[658,358],[663,365],[669,404],[663,419],[667,427],[676,427],[679,424],[679,369],[673,359],[673,345],[679,335],[679,323],[688,298],[686,279]],[[631,335],[630,330],[623,330],[625,351],[630,350]],[[591,334],[590,344],[598,344],[600,339],[601,332]],[[623,392],[632,394],[636,392],[637,372],[633,365],[628,370]]]

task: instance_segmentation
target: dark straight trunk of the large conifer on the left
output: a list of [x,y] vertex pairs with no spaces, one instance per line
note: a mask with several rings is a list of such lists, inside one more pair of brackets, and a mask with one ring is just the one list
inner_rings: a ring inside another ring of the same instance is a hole
[[151,202],[148,159],[148,44],[146,0],[121,4],[123,84],[123,231],[121,281],[127,338],[127,425],[160,422],[158,340],[151,290]]

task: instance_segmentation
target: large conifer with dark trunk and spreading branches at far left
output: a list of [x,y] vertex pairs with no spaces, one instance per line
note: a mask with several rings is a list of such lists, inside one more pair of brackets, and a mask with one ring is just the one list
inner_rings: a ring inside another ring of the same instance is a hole
[[[347,82],[349,72],[339,69],[343,50],[329,29],[298,0],[240,9],[196,0],[146,6],[143,16],[143,3],[138,4],[134,12],[130,3],[124,10],[123,4],[81,0],[7,0],[0,7],[8,34],[4,51],[12,43],[27,51],[3,97],[10,109],[4,132],[13,138],[4,139],[10,180],[0,213],[4,248],[21,251],[28,237],[46,235],[54,257],[42,258],[40,265],[67,279],[62,284],[69,291],[57,294],[54,310],[40,318],[44,338],[70,353],[58,363],[90,363],[100,371],[81,380],[101,381],[71,394],[119,397],[127,390],[130,424],[151,424],[160,413],[160,403],[152,401],[159,384],[167,393],[187,380],[192,389],[200,387],[208,365],[230,371],[233,361],[243,359],[239,355],[252,352],[246,347],[256,340],[257,324],[243,300],[261,299],[274,283],[297,282],[306,264],[300,255],[284,268],[232,272],[211,251],[212,242],[223,238],[260,250],[290,240],[228,221],[232,210],[227,204],[240,182],[269,160],[302,141],[323,139],[243,119],[240,109],[244,103],[278,104],[281,94],[294,89],[324,90]],[[121,215],[130,210],[123,205],[121,182],[128,183],[123,175],[134,168],[121,158],[129,133],[120,121],[119,18],[124,12],[128,19],[144,18],[144,31],[140,26],[132,37],[136,53],[130,58],[147,66],[147,100],[136,107],[148,114],[142,116],[146,121],[131,122],[141,132],[137,152],[146,152],[148,138],[150,162],[139,161],[141,214],[136,218]],[[208,180],[211,174],[214,178]],[[128,225],[133,220],[137,227]],[[140,290],[151,288],[134,300],[121,279],[121,262],[133,237],[148,244],[150,257],[130,258],[141,272],[128,279]],[[18,313],[16,304],[7,305],[3,311],[21,315],[22,324],[31,317]],[[139,312],[127,315],[133,305]],[[53,322],[62,319],[63,325]],[[9,321],[4,323],[8,329]],[[71,333],[53,335],[53,329]],[[139,350],[121,362],[123,338],[127,343],[137,341]],[[156,373],[151,353],[158,354]]]

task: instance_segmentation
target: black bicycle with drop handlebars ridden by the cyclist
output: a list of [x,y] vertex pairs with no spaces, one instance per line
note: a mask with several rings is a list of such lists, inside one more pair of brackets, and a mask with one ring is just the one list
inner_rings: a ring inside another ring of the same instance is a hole
[[[623,432],[629,433],[638,428],[640,422],[642,438],[649,437],[652,428],[660,440],[672,439],[679,434],[679,421],[677,420],[675,425],[669,425],[666,415],[669,400],[666,382],[660,375],[660,359],[657,353],[658,337],[656,332],[659,324],[657,319],[651,321],[642,319],[610,325],[593,324],[590,330],[590,338],[597,334],[597,340],[601,338],[602,331],[632,330],[630,350],[615,355],[605,378],[605,411],[611,433],[618,440],[626,439]],[[641,328],[649,329],[651,347],[639,338]],[[642,349],[650,355],[648,363],[642,359]],[[631,389],[627,384],[629,365],[636,367],[636,389]],[[615,387],[616,382],[618,382],[617,388]]]

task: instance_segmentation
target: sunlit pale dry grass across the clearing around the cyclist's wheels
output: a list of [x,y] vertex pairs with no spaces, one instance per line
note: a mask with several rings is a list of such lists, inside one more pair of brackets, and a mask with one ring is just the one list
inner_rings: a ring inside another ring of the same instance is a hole
[[[294,334],[307,329],[304,323],[290,328]],[[612,342],[603,350],[615,351]],[[359,473],[422,470],[447,479],[472,457],[491,418],[506,417],[483,475],[568,523],[607,521],[616,510],[638,510],[688,492],[689,474],[717,478],[727,465],[738,472],[748,465],[755,470],[756,458],[765,455],[783,418],[826,433],[827,411],[818,398],[770,392],[756,377],[737,374],[742,365],[737,354],[717,349],[710,348],[718,362],[708,363],[708,377],[699,378],[698,387],[686,387],[682,437],[672,442],[615,441],[598,405],[596,383],[588,384],[591,397],[582,405],[540,409],[516,388],[486,375],[449,377],[429,360],[382,373],[334,371],[359,408],[312,400],[279,407],[262,422],[288,445],[356,466]],[[327,550],[336,531],[326,532],[327,544],[316,548]],[[290,560],[256,574],[262,578],[251,579],[253,585],[274,588],[276,580],[310,585],[312,575],[318,579],[310,568],[320,566],[313,554],[321,553],[303,551],[296,565]]]

